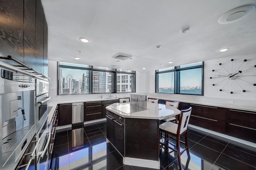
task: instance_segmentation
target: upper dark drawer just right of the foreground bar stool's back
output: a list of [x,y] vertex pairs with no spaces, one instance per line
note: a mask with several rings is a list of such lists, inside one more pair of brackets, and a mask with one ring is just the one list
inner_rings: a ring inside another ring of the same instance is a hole
[[214,120],[226,121],[226,108],[190,104],[191,114]]

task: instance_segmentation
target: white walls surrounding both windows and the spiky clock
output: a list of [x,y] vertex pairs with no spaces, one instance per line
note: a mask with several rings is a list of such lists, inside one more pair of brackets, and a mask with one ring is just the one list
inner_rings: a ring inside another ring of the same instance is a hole
[[[230,59],[234,59],[233,63],[231,63]],[[248,61],[243,63],[243,60],[247,59]],[[136,72],[136,92],[137,93],[148,93],[154,96],[170,98],[170,99],[180,99],[180,100],[188,100],[195,101],[199,103],[226,103],[228,101],[234,101],[236,105],[243,106],[255,106],[256,102],[256,86],[253,86],[252,83],[256,83],[256,76],[245,76],[241,77],[248,82],[239,81],[240,86],[246,90],[246,92],[242,92],[242,89],[234,80],[232,80],[232,91],[234,94],[230,94],[231,84],[228,82],[226,86],[223,88],[223,91],[220,92],[219,89],[224,86],[225,83],[219,83],[220,80],[218,78],[210,79],[210,77],[214,77],[214,75],[218,75],[218,72],[212,72],[212,70],[216,70],[222,73],[226,73],[224,68],[219,65],[222,63],[222,66],[226,68],[228,71],[231,70],[233,64],[233,72],[237,70],[246,70],[248,68],[254,67],[256,65],[256,58],[252,55],[243,56],[240,58],[232,58],[225,57],[221,59],[214,59],[204,62],[204,96],[193,96],[193,95],[179,95],[179,94],[156,94],[155,92],[155,71],[148,72]],[[52,101],[68,101],[68,100],[88,100],[88,99],[97,99],[100,98],[101,94],[81,94],[81,95],[64,95],[57,96],[57,62],[56,61],[48,61],[49,66],[49,77],[51,80],[49,82],[52,84],[49,88],[49,94],[52,96]],[[230,71],[232,72],[232,70]],[[251,68],[250,71],[246,71],[247,75],[256,75],[256,67]],[[244,73],[246,73],[244,72]],[[239,75],[239,74],[238,74]],[[238,80],[237,80],[238,81]],[[216,86],[212,86],[212,84],[216,84]],[[103,97],[108,97],[109,94],[104,94]],[[122,94],[112,94],[112,96],[117,97],[128,97],[129,93]]]

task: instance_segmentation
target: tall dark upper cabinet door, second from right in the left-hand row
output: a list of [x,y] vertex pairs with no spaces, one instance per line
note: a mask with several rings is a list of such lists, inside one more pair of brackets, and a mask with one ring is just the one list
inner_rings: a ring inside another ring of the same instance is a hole
[[44,74],[44,9],[36,0],[36,70]]

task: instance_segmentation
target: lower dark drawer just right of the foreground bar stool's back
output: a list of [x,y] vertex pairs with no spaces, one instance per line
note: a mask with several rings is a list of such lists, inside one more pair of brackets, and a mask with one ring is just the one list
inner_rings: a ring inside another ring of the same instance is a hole
[[190,115],[189,124],[226,134],[226,121]]

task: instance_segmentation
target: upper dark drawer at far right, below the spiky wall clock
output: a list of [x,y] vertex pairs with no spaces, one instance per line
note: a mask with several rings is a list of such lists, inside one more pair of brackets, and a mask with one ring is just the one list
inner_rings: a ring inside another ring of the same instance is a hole
[[227,109],[227,123],[256,129],[256,113],[252,111]]

